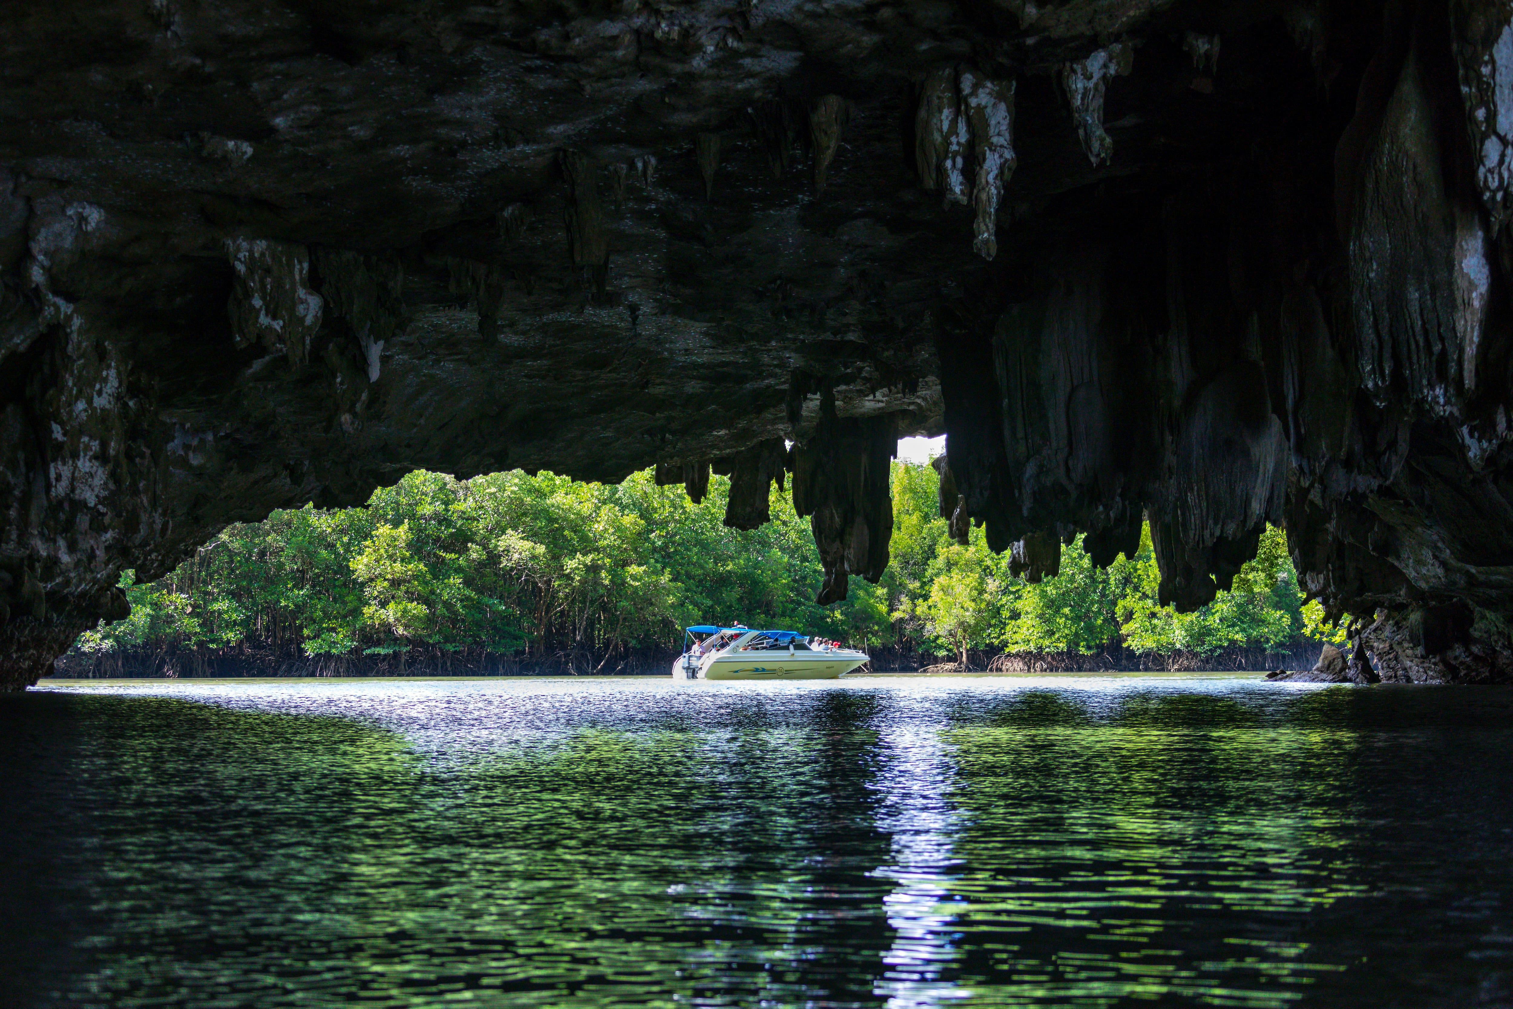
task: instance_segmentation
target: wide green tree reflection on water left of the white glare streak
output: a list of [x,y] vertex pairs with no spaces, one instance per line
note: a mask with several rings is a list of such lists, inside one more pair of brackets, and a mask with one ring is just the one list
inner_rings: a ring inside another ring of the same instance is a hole
[[109,924],[71,997],[870,1000],[885,844],[835,770],[864,762],[875,705],[457,758],[342,719],[82,703],[110,734],[85,775],[120,788],[73,867]]

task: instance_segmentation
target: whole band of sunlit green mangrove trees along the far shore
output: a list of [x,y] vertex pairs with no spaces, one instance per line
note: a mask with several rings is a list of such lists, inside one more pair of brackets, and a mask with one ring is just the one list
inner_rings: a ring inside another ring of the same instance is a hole
[[[867,649],[873,672],[1309,669],[1344,635],[1306,604],[1280,529],[1192,614],[1156,602],[1150,531],[1097,569],[1080,537],[1026,584],[973,529],[950,539],[929,466],[893,464],[893,561],[819,607],[808,522],[723,525],[728,480],[694,504],[651,470],[584,484],[520,470],[415,472],[368,507],[277,511],[224,529],[132,616],[80,635],[54,676],[666,675],[682,626],[785,626]],[[865,669],[865,667],[864,667]]]

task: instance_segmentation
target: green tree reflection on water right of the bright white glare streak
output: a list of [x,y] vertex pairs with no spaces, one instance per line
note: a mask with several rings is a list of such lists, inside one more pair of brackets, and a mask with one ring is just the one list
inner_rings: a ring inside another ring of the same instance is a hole
[[950,927],[965,1001],[1283,1006],[1342,970],[1285,936],[1366,893],[1333,832],[1350,729],[1265,725],[1203,694],[1095,716],[1024,693],[943,740],[964,814]]

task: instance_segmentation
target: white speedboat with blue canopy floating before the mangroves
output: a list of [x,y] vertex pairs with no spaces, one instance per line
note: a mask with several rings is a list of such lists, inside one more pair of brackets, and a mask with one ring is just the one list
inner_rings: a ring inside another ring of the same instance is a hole
[[867,654],[796,631],[691,626],[673,679],[837,679],[867,663]]

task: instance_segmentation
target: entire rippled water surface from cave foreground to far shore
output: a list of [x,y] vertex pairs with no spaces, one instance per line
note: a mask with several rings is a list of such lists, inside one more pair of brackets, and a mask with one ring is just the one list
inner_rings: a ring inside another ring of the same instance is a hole
[[1513,1006],[1513,693],[0,697],[6,1006]]

